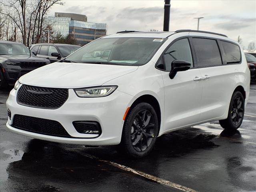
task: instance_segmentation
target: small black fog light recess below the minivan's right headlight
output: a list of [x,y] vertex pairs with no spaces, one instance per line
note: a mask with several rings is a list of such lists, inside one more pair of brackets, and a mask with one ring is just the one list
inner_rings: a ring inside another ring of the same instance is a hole
[[73,125],[78,133],[101,134],[100,124],[96,121],[74,121]]

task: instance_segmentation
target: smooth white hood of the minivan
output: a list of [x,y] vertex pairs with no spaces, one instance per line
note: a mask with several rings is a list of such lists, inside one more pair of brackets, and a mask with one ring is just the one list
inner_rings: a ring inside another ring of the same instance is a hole
[[55,62],[20,78],[20,83],[52,88],[84,88],[134,72],[138,66]]

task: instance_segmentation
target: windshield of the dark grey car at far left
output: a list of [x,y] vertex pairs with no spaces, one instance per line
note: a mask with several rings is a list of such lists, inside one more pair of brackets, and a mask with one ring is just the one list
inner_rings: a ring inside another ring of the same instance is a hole
[[23,44],[0,44],[0,55],[29,55],[29,49]]

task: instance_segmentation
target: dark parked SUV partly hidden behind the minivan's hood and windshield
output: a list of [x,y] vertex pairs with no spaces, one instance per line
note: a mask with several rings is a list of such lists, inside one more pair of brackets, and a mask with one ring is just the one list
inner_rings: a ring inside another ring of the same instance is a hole
[[78,50],[80,46],[69,44],[38,43],[30,45],[31,52],[40,57],[56,62]]

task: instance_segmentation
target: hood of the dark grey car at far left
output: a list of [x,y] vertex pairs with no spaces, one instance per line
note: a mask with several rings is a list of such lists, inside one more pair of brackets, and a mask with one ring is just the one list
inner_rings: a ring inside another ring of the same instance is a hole
[[45,58],[39,58],[36,56],[31,56],[30,55],[1,55],[0,56],[1,60],[4,61],[20,61],[20,62],[48,62],[48,59]]

